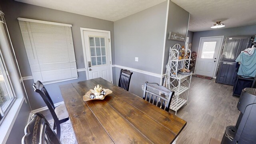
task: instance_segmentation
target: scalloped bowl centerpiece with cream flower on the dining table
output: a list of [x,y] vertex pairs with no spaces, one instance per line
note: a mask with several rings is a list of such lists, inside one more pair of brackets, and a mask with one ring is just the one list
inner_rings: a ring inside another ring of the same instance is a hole
[[112,90],[104,89],[99,85],[97,85],[97,87],[96,86],[94,87],[94,90],[91,89],[88,92],[86,92],[86,94],[83,96],[83,100],[84,101],[103,100],[105,96],[111,93],[112,93]]

